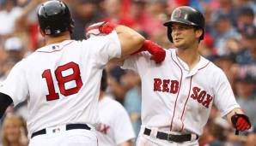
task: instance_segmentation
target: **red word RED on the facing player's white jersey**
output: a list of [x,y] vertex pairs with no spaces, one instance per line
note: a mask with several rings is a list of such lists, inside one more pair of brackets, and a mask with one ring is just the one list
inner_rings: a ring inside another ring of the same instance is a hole
[[179,90],[179,81],[170,79],[154,79],[154,91],[177,93]]

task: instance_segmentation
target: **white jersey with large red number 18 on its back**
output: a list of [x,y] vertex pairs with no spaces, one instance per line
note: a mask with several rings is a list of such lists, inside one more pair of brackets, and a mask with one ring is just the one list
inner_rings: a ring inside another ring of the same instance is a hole
[[18,62],[0,87],[15,105],[27,99],[29,135],[46,127],[98,121],[103,67],[119,58],[115,31],[88,40],[66,40],[36,50]]

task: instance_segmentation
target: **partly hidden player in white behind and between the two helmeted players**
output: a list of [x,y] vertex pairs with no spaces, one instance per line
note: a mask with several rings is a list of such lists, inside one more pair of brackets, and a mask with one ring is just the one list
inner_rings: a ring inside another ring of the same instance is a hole
[[107,73],[103,70],[99,102],[100,125],[97,126],[99,146],[132,146],[135,133],[125,108],[107,96]]

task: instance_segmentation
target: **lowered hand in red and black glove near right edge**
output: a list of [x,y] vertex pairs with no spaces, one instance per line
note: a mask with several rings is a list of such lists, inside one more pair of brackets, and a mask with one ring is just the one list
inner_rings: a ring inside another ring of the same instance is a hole
[[231,121],[237,131],[246,131],[251,128],[251,122],[246,114],[234,114]]

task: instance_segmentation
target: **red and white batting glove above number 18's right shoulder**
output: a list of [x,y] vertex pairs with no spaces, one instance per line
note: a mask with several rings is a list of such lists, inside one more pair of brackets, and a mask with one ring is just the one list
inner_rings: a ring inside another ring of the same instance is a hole
[[85,37],[92,38],[96,36],[107,35],[113,32],[116,26],[116,24],[107,21],[94,23],[93,25],[90,25],[85,29]]

